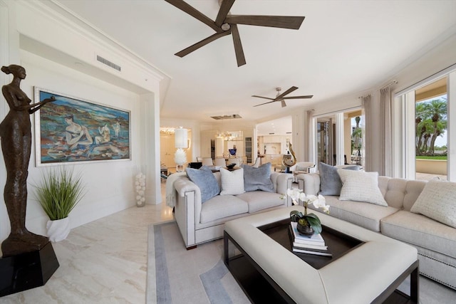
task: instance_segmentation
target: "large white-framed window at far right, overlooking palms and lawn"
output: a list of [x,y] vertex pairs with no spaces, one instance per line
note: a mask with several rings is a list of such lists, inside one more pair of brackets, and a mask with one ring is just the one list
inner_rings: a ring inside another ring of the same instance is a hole
[[[449,134],[456,134],[456,72],[452,67],[395,95],[394,177],[456,179],[456,156]],[[453,93],[454,94],[454,93]],[[453,107],[455,108],[455,107]]]

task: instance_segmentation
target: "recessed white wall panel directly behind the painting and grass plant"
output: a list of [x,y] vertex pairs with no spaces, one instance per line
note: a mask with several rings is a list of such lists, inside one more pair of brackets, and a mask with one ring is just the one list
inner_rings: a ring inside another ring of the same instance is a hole
[[[84,183],[88,188],[81,204],[71,213],[72,226],[86,224],[89,221],[112,214],[134,205],[133,174],[135,165],[140,164],[140,120],[138,114],[138,94],[117,88],[102,80],[92,78],[83,73],[75,72],[63,65],[21,51],[21,65],[26,68],[27,78],[21,83],[21,88],[28,96],[33,96],[33,86],[90,100],[95,103],[109,104],[115,108],[131,111],[131,150],[135,152],[132,160],[116,162],[95,162],[75,164],[76,172],[81,172]],[[33,121],[33,117],[31,117]],[[64,126],[63,126],[64,127]],[[32,134],[34,134],[34,126]],[[31,231],[45,233],[46,214],[41,206],[33,201],[33,181],[38,182],[46,167],[35,167],[35,145],[28,166],[28,203],[27,226]]]

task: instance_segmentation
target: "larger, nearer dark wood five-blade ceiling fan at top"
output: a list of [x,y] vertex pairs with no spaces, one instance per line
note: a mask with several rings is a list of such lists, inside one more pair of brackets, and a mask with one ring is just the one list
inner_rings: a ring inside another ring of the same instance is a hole
[[181,11],[195,17],[202,23],[212,28],[216,33],[209,36],[202,41],[195,43],[188,48],[183,49],[180,52],[175,53],[176,56],[184,57],[192,51],[196,51],[198,48],[205,46],[218,38],[227,36],[230,33],[233,36],[234,52],[236,53],[237,66],[244,65],[246,63],[244,58],[244,51],[242,49],[241,38],[237,29],[237,24],[247,24],[250,26],[270,26],[274,28],[290,28],[299,29],[301,23],[304,21],[304,16],[258,16],[258,15],[231,15],[229,10],[234,4],[235,0],[222,0],[220,5],[219,13],[215,21],[212,21],[209,17],[202,14],[197,9],[187,4],[182,0],[165,0],[173,6],[177,7]]

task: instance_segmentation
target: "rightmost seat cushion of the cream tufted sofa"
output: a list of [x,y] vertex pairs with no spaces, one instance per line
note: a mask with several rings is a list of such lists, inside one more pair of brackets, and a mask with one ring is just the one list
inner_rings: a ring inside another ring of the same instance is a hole
[[385,236],[456,258],[455,229],[427,216],[401,210],[382,219],[380,229]]

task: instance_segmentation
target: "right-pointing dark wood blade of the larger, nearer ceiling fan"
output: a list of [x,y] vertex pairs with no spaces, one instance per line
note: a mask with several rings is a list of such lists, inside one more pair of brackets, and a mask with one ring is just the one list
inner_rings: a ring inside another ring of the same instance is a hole
[[273,28],[299,29],[304,21],[304,16],[255,16],[255,15],[229,15],[227,23],[247,24],[249,26],[271,26]]

